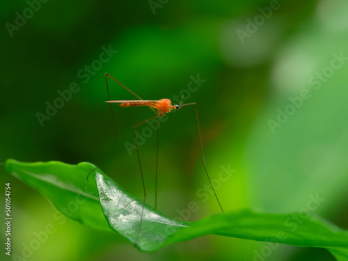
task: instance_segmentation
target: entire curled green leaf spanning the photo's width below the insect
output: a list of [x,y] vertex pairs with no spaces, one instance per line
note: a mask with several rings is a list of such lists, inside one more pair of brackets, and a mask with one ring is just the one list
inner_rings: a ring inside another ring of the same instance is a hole
[[301,218],[296,213],[267,214],[246,209],[182,222],[145,204],[141,221],[143,201],[124,191],[102,171],[95,171],[95,181],[86,182],[86,174],[94,168],[88,163],[72,166],[57,161],[31,164],[6,161],[7,171],[48,196],[59,210],[76,201],[76,197],[86,198],[76,212],[65,214],[103,230],[109,229],[109,223],[112,230],[135,243],[141,251],[157,251],[168,244],[214,234],[272,244],[327,248],[337,260],[348,260],[348,231],[313,215]]

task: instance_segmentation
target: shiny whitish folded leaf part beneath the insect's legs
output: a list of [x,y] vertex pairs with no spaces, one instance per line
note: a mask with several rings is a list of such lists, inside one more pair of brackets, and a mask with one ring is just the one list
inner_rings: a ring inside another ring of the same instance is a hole
[[100,203],[110,227],[136,243],[142,251],[159,249],[169,235],[188,226],[187,223],[168,218],[145,204],[139,231],[143,202],[123,191],[116,182],[102,173],[97,173],[95,180],[100,193]]

